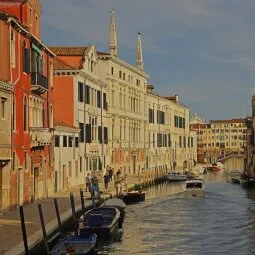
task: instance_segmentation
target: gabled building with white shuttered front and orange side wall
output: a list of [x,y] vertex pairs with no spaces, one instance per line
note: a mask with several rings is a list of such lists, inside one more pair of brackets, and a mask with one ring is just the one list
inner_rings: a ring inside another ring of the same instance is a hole
[[[107,87],[99,79],[99,60],[93,45],[51,47],[54,62],[55,118],[80,130],[79,173],[75,183],[85,181],[85,173],[104,171],[108,158]],[[58,179],[65,176],[64,166]]]

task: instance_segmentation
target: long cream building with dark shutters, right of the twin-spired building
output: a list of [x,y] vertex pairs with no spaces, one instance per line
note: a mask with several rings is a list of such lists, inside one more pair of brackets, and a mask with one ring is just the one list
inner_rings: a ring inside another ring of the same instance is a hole
[[196,134],[190,131],[190,109],[179,103],[178,96],[161,97],[148,86],[147,167],[170,170],[173,162],[183,169],[184,161],[191,164],[196,155]]

